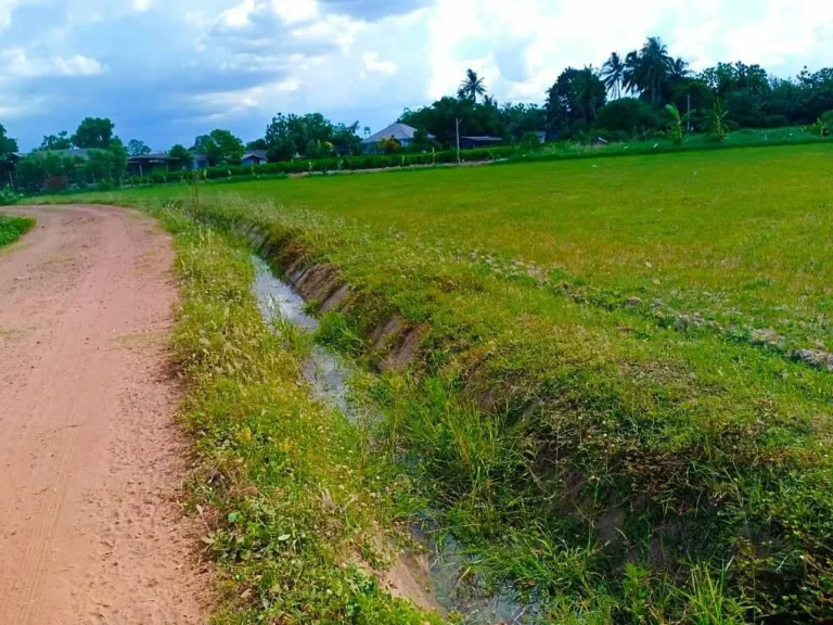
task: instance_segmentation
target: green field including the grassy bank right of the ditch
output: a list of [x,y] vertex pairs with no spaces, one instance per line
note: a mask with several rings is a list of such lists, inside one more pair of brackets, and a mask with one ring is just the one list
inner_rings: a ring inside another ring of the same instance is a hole
[[424,330],[407,371],[359,384],[385,416],[372,445],[475,569],[550,620],[830,618],[833,372],[796,352],[833,350],[832,160],[803,145],[206,186],[198,214],[335,266],[354,301],[320,340],[369,371],[356,336],[392,315]]

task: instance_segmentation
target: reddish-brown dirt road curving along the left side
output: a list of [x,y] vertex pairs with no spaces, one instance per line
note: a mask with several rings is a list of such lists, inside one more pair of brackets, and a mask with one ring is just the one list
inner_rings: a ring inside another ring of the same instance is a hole
[[170,241],[118,208],[15,208],[0,250],[0,625],[204,623],[175,500]]

